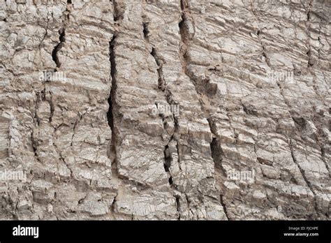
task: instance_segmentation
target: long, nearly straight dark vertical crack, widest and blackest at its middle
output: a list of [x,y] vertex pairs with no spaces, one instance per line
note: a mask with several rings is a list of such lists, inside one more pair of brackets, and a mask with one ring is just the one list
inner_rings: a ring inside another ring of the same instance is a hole
[[112,40],[109,43],[109,59],[110,59],[110,78],[112,79],[112,87],[110,89],[110,96],[108,98],[109,109],[107,112],[108,126],[112,130],[112,140],[110,142],[110,149],[115,153],[115,159],[112,161],[112,172],[118,177],[118,165],[116,157],[116,145],[117,138],[114,128],[114,114],[115,114],[115,96],[116,96],[116,61],[115,61],[115,43],[117,35],[112,36]]

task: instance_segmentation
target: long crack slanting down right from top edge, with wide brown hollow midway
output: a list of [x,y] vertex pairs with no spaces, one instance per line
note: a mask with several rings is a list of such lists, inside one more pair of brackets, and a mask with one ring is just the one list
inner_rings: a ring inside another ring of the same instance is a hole
[[[196,92],[199,96],[199,101],[200,101],[200,106],[201,109],[203,110],[204,114],[207,116],[207,121],[209,123],[209,130],[210,133],[212,133],[212,142],[210,142],[210,149],[212,153],[212,159],[214,161],[214,167],[220,166],[218,164],[219,158],[216,158],[216,155],[219,155],[219,149],[221,149],[220,142],[216,138],[216,133],[213,132],[212,129],[212,124],[214,123],[212,116],[210,114],[210,111],[205,108],[205,105],[202,101],[202,96],[207,97],[209,100],[210,96],[212,96],[215,92],[212,90],[209,90],[208,87],[209,85],[209,80],[207,78],[197,78],[193,73],[189,71],[189,55],[188,55],[188,45],[189,45],[189,40],[190,40],[190,35],[189,35],[189,25],[191,24],[191,21],[189,20],[189,2],[187,0],[181,0],[180,1],[180,6],[182,9],[182,21],[179,22],[179,34],[181,36],[181,44],[180,44],[180,59],[182,62],[182,68],[184,70],[184,73],[186,74],[187,77],[191,80],[193,83]],[[194,29],[194,27],[193,27]],[[219,145],[216,147],[216,145]],[[220,162],[220,161],[219,161]],[[226,209],[226,204],[223,201],[223,195],[220,194],[220,203],[223,207],[223,212],[226,214],[227,219],[230,219],[228,217],[228,211]]]

